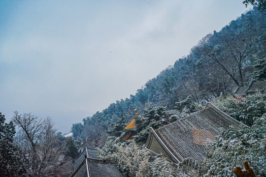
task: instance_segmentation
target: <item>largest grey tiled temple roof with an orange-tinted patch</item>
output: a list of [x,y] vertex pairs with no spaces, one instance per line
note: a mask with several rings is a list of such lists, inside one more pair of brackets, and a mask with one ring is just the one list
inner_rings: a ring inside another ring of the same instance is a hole
[[157,130],[150,127],[145,147],[174,163],[189,157],[202,161],[205,158],[204,146],[221,135],[220,128],[228,129],[230,125],[239,124],[242,123],[207,103],[204,109],[186,118]]

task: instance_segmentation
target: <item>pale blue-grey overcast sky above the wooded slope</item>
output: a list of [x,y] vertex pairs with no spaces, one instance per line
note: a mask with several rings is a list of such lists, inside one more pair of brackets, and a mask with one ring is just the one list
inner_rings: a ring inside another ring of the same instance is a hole
[[72,123],[130,97],[242,0],[0,0],[0,112]]

